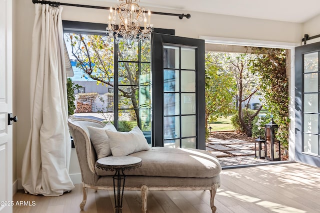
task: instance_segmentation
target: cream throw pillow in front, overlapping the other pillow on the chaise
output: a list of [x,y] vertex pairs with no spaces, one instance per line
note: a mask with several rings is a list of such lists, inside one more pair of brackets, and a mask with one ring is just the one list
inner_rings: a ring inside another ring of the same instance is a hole
[[105,130],[109,138],[112,156],[126,156],[131,153],[149,150],[150,147],[139,127],[130,132],[112,132]]

